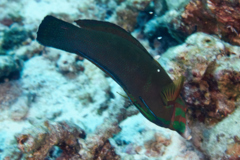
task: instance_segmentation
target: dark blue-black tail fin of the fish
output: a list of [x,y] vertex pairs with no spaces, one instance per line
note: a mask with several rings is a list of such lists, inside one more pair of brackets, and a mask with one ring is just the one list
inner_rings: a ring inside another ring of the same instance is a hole
[[78,29],[53,16],[46,16],[38,28],[37,41],[45,46],[75,52],[71,41],[74,40],[75,31]]

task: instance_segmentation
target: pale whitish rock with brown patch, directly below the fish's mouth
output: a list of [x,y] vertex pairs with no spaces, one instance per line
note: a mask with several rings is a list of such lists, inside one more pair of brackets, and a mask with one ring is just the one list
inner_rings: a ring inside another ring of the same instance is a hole
[[[203,159],[194,146],[176,132],[156,127],[141,114],[124,120],[122,131],[110,139],[121,159]],[[178,149],[176,149],[178,148]]]

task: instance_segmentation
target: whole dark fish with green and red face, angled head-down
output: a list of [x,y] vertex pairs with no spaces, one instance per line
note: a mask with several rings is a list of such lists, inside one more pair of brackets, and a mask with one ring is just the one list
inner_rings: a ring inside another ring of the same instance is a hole
[[123,88],[149,121],[190,139],[187,106],[180,95],[183,76],[173,81],[143,45],[116,24],[89,19],[74,22],[47,15],[39,25],[37,41],[91,61]]

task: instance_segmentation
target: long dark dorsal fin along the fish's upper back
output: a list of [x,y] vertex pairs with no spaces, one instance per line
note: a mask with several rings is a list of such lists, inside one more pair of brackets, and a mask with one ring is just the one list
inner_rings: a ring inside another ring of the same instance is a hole
[[108,32],[108,33],[117,35],[119,37],[122,37],[132,42],[133,44],[138,46],[138,48],[140,48],[144,52],[147,52],[148,54],[148,51],[142,46],[142,44],[138,40],[136,40],[129,32],[125,31],[123,28],[119,27],[116,24],[104,22],[104,21],[88,20],[88,19],[77,20],[74,22],[76,22],[77,25],[79,25],[82,28]]

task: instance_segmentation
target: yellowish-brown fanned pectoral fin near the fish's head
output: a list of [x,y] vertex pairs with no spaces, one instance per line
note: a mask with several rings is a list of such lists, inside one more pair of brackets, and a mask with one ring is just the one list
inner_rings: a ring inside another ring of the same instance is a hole
[[181,76],[176,81],[163,88],[163,90],[161,91],[161,96],[165,105],[167,105],[169,101],[175,101],[177,99],[183,87],[183,82],[184,77]]

